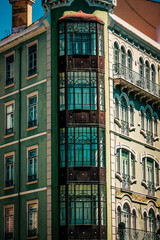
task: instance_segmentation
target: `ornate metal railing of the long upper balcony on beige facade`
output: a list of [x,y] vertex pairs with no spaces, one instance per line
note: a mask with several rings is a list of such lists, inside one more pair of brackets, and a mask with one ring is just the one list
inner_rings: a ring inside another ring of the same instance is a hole
[[125,67],[121,63],[113,64],[113,78],[122,78],[157,97],[160,97],[160,85]]

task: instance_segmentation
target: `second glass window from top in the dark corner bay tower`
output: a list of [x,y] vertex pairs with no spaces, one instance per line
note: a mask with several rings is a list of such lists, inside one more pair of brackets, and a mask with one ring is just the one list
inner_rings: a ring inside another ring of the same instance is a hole
[[96,72],[68,72],[68,109],[97,109]]

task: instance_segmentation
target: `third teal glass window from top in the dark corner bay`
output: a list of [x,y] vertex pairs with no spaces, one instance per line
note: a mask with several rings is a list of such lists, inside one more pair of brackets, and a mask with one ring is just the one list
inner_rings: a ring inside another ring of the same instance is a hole
[[[103,149],[101,154],[103,159]],[[73,167],[97,165],[97,128],[68,128],[68,166]]]

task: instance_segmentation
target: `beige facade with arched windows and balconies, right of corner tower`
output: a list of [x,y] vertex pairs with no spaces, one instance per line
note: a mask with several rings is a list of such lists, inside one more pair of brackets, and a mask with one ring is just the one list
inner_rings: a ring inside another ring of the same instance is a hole
[[159,67],[160,44],[110,15],[112,239],[157,239]]

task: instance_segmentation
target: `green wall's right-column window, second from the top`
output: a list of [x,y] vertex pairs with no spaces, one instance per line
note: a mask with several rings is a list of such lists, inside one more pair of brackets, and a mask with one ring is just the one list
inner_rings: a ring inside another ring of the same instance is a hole
[[28,99],[28,127],[37,126],[37,95]]

